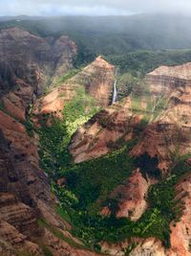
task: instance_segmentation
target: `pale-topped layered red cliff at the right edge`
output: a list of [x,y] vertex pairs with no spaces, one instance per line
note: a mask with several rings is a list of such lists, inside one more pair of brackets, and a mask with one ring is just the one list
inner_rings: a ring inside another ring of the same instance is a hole
[[[166,172],[171,164],[171,152],[191,150],[191,63],[175,67],[160,67],[147,75],[151,97],[157,103],[164,99],[164,109],[156,123],[143,132],[143,139],[133,155],[148,152],[158,156],[159,168]],[[156,98],[156,99],[155,99]]]

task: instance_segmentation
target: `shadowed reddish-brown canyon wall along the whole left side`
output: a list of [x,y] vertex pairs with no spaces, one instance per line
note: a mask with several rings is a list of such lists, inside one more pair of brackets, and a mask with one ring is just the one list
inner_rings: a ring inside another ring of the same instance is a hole
[[17,28],[0,32],[0,255],[50,254],[45,248],[58,256],[96,255],[46,227],[66,232],[67,223],[56,214],[57,199],[39,168],[38,137],[23,125],[47,78],[66,73],[75,53],[68,36],[45,40]]

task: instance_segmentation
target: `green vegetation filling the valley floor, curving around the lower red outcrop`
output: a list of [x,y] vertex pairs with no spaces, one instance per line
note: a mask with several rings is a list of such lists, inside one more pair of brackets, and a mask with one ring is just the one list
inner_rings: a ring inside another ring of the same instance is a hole
[[[133,159],[128,152],[137,140],[129,144],[119,140],[116,151],[74,165],[67,148],[71,135],[95,112],[95,105],[80,89],[74,100],[66,105],[63,121],[54,120],[52,127],[42,126],[39,130],[41,165],[50,175],[53,193],[60,201],[57,213],[72,223],[74,236],[94,250],[100,249],[100,241],[117,243],[132,237],[156,237],[169,247],[170,222],[179,221],[182,210],[180,203],[174,200],[175,185],[180,176],[190,171],[185,163],[186,157],[179,157],[171,175],[161,179],[157,157],[144,154]],[[146,121],[142,127],[145,124]],[[175,158],[178,159],[177,156]],[[159,183],[150,187],[147,196],[149,207],[138,221],[117,219],[118,199],[110,198],[110,193],[138,167],[145,177],[158,178]],[[64,187],[56,184],[60,177],[66,179]],[[99,215],[104,206],[111,210],[110,217]],[[131,249],[126,248],[127,255]]]

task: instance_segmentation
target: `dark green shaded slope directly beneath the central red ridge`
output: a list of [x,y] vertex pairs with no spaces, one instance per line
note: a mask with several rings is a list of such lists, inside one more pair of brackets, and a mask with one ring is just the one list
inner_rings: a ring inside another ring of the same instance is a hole
[[95,206],[98,207],[96,201],[106,200],[108,194],[131,174],[135,168],[133,159],[128,156],[132,145],[59,174],[66,177],[67,188],[78,198],[77,208],[93,213]]

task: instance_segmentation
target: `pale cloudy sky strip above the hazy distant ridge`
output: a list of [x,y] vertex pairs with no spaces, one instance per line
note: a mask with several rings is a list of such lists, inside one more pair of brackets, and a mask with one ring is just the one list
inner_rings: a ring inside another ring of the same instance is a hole
[[191,14],[191,0],[0,0],[0,15]]

